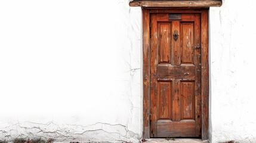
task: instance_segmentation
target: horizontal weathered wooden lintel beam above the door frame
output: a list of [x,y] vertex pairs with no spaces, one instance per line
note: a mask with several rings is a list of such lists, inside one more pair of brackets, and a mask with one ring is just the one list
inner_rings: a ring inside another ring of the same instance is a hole
[[132,1],[130,7],[220,7],[222,1]]

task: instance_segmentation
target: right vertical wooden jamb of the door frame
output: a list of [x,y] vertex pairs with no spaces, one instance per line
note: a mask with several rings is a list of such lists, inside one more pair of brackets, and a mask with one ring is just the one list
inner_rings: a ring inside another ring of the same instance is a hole
[[208,139],[209,122],[209,27],[208,10],[202,10],[202,140]]

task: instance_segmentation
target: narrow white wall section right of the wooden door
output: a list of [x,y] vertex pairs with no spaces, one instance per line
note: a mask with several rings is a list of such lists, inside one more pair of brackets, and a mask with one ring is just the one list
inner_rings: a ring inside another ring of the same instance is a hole
[[212,142],[256,142],[256,2],[210,10]]

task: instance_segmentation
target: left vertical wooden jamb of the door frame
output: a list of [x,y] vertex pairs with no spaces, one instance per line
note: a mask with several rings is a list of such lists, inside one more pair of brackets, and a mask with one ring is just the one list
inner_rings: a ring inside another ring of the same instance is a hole
[[150,14],[142,9],[143,26],[143,138],[150,138]]

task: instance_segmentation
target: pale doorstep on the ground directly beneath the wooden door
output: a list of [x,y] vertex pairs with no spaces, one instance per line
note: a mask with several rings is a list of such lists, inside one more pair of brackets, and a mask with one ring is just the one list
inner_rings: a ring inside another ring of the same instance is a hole
[[[175,138],[175,141],[167,141],[166,139],[163,138],[151,138],[151,139],[147,139],[146,143],[158,143],[158,142],[163,142],[163,143],[202,143],[202,139],[190,139],[190,138]],[[208,143],[208,142],[203,142],[203,143]]]

